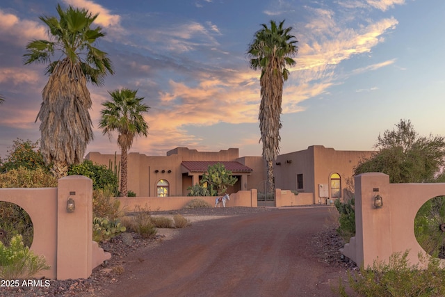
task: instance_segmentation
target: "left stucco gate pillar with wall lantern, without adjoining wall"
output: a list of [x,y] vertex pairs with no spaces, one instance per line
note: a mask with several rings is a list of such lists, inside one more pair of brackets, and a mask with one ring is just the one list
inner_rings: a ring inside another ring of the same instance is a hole
[[[67,211],[67,200],[75,203]],[[58,180],[57,279],[88,278],[92,271],[92,180],[80,175]]]

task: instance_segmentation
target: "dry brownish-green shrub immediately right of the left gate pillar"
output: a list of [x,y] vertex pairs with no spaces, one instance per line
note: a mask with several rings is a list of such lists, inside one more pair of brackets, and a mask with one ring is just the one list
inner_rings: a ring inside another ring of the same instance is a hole
[[99,218],[116,220],[124,215],[120,201],[112,197],[111,188],[92,191],[92,214]]

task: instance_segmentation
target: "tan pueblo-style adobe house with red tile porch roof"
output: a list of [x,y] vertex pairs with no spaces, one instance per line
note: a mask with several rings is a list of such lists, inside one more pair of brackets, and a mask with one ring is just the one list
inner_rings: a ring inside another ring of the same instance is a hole
[[[281,154],[275,161],[275,188],[312,193],[314,204],[343,198],[346,180],[352,177],[354,166],[371,153],[312,145],[307,150]],[[115,155],[90,152],[86,159],[108,166]],[[120,155],[117,156],[119,160]],[[198,152],[177,147],[166,156],[128,154],[128,188],[140,197],[186,196],[187,188],[197,184],[208,166],[214,163],[223,163],[238,178],[228,193],[261,188],[267,179],[262,156],[240,157],[237,148]]]

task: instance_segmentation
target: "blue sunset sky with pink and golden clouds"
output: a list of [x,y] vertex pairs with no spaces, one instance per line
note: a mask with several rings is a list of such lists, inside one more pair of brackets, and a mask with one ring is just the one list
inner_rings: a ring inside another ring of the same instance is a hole
[[90,86],[95,140],[87,152],[119,152],[97,129],[107,91],[138,89],[151,106],[147,138],[131,152],[238,147],[261,155],[259,71],[245,52],[260,24],[293,27],[297,65],[284,86],[281,153],[325,145],[372,150],[403,119],[419,134],[445,135],[443,0],[2,0],[0,156],[15,138],[40,138],[34,122],[47,83],[44,65],[22,65],[26,43],[46,39],[38,17],[56,5],[99,13],[115,75]]

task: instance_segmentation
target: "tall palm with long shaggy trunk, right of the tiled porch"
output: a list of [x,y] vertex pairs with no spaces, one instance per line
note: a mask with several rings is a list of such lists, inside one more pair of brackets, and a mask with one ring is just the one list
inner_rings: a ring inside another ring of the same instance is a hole
[[270,21],[270,28],[261,24],[262,28],[255,33],[248,48],[250,67],[254,70],[261,69],[261,104],[258,118],[270,190],[275,188],[273,161],[280,152],[283,84],[289,77],[286,67],[296,64],[292,57],[296,56],[298,51],[298,41],[290,34],[292,27],[283,28],[283,24],[284,20],[278,26],[275,21]]

